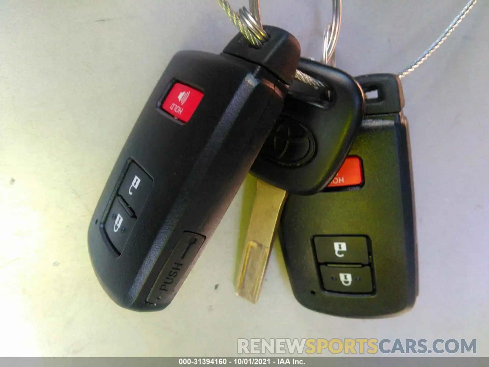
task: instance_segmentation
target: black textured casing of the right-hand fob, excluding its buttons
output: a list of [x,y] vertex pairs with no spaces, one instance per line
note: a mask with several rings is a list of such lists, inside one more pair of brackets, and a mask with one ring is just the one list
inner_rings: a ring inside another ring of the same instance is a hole
[[[392,82],[397,77],[389,78]],[[382,88],[385,74],[357,80],[363,86],[365,79]],[[378,114],[365,116],[349,153],[363,161],[363,186],[312,196],[289,195],[281,218],[280,239],[295,297],[302,305],[330,315],[394,315],[410,309],[418,293],[409,135],[407,119],[399,109],[404,103],[402,92],[380,90],[378,95],[372,101]],[[378,107],[382,98],[385,110]],[[398,110],[392,110],[396,104]],[[313,245],[318,235],[369,239],[372,293],[325,290]]]

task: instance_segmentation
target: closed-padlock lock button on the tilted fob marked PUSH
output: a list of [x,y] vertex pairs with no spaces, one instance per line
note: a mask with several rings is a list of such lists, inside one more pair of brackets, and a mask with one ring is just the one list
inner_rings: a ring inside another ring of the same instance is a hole
[[122,253],[127,239],[133,230],[136,218],[133,217],[131,210],[125,207],[120,197],[115,198],[109,216],[105,221],[105,231],[117,252]]

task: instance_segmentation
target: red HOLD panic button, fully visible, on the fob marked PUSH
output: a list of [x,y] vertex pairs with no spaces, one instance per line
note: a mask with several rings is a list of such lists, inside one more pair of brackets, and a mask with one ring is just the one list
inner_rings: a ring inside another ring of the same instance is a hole
[[161,109],[182,122],[188,122],[204,93],[185,84],[175,83],[161,104]]

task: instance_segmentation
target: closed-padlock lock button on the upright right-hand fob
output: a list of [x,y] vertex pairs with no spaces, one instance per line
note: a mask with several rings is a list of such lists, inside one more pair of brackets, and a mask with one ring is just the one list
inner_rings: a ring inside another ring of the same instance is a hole
[[324,289],[339,293],[372,293],[370,266],[347,268],[321,265]]

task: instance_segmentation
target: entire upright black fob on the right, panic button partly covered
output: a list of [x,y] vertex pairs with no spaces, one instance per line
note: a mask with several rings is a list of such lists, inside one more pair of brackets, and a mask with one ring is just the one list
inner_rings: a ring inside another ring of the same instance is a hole
[[397,76],[357,77],[365,119],[324,192],[289,195],[281,244],[304,306],[343,317],[410,309],[417,296],[416,232],[407,119]]

